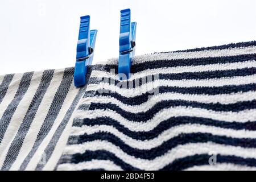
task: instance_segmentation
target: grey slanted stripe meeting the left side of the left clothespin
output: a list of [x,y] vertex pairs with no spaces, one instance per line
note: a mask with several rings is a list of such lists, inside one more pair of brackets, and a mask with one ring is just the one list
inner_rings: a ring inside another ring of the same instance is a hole
[[57,115],[59,115],[61,106],[63,105],[65,97],[67,96],[68,90],[71,87],[71,84],[73,81],[73,73],[74,73],[74,68],[66,68],[65,69],[64,75],[63,75],[63,80],[61,80],[60,86],[57,89],[57,92],[55,93],[55,96],[54,96],[51,106],[48,110],[46,118],[44,119],[43,125],[40,128],[38,136],[36,137],[34,146],[32,147],[31,151],[24,159],[19,170],[26,169],[32,156],[34,156],[36,150],[38,150],[38,147],[43,142],[43,139],[46,137],[46,135],[51,130],[51,127],[52,127],[53,123],[55,122]]

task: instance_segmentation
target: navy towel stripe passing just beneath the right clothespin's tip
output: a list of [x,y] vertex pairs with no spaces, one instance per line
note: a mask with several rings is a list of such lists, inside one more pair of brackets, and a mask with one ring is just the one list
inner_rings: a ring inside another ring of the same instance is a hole
[[205,80],[213,78],[226,78],[234,76],[250,76],[256,74],[256,68],[229,69],[224,71],[205,71],[205,72],[183,72],[168,73],[159,75],[147,75],[147,77],[137,78],[135,80],[115,80],[109,77],[103,77],[102,81],[111,85],[118,85],[120,88],[136,88],[147,82],[155,80]]

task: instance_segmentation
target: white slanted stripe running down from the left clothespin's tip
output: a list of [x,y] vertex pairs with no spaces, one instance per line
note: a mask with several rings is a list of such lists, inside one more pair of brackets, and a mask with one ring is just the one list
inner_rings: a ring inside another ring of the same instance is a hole
[[[73,84],[71,84],[71,87],[69,88],[67,96],[65,97],[63,105],[59,111],[59,114],[57,115],[57,118],[55,119],[55,121],[51,127],[51,130],[49,131],[47,136],[43,139],[43,142],[40,143],[38,150],[36,150],[34,156],[32,156],[30,162],[28,163],[28,165],[26,167],[26,170],[28,170],[28,171],[35,170],[36,166],[38,165],[38,163],[41,159],[41,156],[43,155],[44,150],[46,149],[48,143],[52,139],[52,136],[54,135],[55,131],[57,130],[57,127],[60,125],[61,121],[63,121],[65,114],[67,113],[69,107],[72,105],[72,102],[74,101],[77,92],[79,92],[79,89],[77,89]],[[53,157],[60,158],[60,156],[53,156]]]

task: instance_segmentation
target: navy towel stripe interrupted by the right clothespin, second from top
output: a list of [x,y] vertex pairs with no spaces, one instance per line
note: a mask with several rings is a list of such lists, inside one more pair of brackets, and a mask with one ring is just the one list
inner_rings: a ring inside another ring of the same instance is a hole
[[[207,64],[225,64],[225,63],[237,63],[249,60],[256,60],[256,54],[250,55],[238,55],[238,56],[225,56],[225,57],[203,57],[196,59],[177,59],[177,60],[155,60],[145,61],[143,63],[137,63],[131,65],[131,73],[138,73],[146,69],[156,68],[170,68],[170,67],[188,67],[196,65]],[[110,69],[115,69],[115,74],[118,74],[118,65],[107,64],[104,67],[104,71],[110,72]]]

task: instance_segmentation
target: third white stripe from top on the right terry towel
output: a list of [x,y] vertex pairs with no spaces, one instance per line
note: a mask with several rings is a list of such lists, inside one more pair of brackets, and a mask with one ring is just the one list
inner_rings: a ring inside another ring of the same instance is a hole
[[[100,89],[110,90],[111,92],[117,92],[121,94],[121,96],[125,97],[135,97],[139,96],[143,93],[151,92],[152,89],[158,88],[158,86],[177,86],[180,88],[190,88],[193,86],[225,86],[225,85],[242,85],[242,84],[252,84],[256,83],[256,75],[250,76],[235,76],[235,77],[227,77],[227,78],[214,78],[214,79],[204,79],[204,80],[154,80],[151,82],[147,82],[141,86],[136,88],[119,88],[119,86],[115,86],[113,84],[109,84],[106,82],[100,82],[100,84],[93,84],[89,90],[98,90],[98,92],[102,92]],[[98,86],[97,86],[98,85]],[[124,85],[123,85],[124,86]],[[155,90],[154,94],[157,94],[158,90]]]

